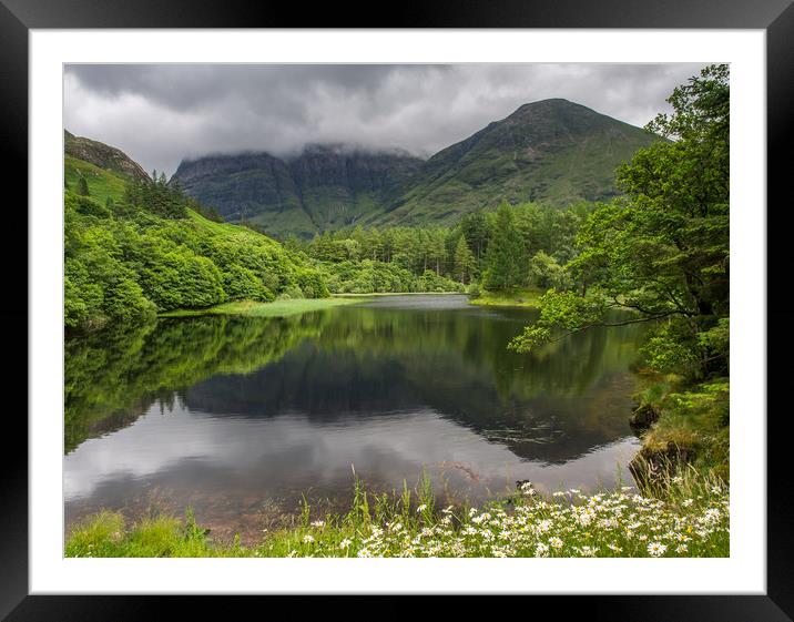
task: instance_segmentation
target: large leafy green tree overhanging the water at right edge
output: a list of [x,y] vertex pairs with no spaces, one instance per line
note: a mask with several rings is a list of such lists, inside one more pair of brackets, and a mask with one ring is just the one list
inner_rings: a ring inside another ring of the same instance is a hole
[[638,320],[665,320],[645,347],[654,369],[691,378],[726,370],[727,332],[719,327],[729,315],[729,100],[726,65],[674,90],[673,114],[648,129],[675,141],[639,150],[618,170],[625,196],[600,205],[579,230],[568,269],[581,302],[550,296],[516,348],[628,307]]

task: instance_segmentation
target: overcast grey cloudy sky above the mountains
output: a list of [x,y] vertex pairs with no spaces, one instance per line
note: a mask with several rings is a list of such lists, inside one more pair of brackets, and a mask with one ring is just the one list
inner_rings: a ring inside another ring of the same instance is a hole
[[666,111],[699,64],[81,64],[64,70],[64,126],[171,175],[183,157],[306,143],[423,157],[521,104],[564,98],[634,125]]

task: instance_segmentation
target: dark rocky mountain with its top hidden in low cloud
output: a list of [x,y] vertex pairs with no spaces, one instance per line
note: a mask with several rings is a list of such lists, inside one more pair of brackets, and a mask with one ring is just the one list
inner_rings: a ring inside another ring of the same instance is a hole
[[307,145],[287,160],[257,152],[183,161],[172,181],[228,221],[309,236],[383,211],[421,164],[405,152]]

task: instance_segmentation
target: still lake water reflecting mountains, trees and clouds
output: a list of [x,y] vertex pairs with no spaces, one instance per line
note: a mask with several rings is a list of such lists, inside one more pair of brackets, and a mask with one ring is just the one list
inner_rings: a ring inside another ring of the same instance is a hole
[[182,513],[254,539],[305,494],[368,488],[480,502],[517,480],[612,486],[642,328],[507,350],[536,312],[390,296],[289,318],[198,317],[67,343],[67,528],[101,508]]

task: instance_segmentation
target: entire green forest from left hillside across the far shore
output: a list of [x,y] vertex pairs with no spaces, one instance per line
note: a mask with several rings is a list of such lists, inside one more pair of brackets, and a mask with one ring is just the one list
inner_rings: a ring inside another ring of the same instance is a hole
[[596,207],[505,203],[451,228],[357,226],[282,244],[223,223],[162,174],[123,180],[68,157],[64,324],[84,332],[233,300],[574,287],[564,266]]

